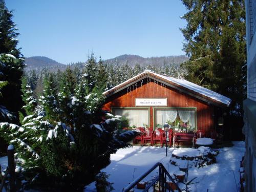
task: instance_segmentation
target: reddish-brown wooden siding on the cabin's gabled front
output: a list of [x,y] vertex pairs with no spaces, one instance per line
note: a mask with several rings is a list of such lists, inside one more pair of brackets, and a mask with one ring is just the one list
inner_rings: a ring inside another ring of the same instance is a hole
[[[135,98],[167,98],[168,108],[196,108],[197,127],[200,130],[214,129],[214,106],[195,97],[177,91],[157,81],[137,82],[110,97],[106,98],[103,110],[111,111],[112,107],[134,107]],[[139,84],[139,86],[138,86]],[[137,87],[137,89],[136,89]],[[154,127],[154,108],[150,108],[150,126]]]

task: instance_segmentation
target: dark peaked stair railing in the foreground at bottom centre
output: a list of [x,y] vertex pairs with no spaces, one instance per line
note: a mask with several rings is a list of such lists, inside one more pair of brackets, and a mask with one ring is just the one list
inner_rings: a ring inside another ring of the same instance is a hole
[[135,185],[137,185],[137,183],[139,183],[142,179],[144,179],[146,176],[148,176],[150,173],[152,173],[156,168],[159,168],[159,175],[156,176],[150,183],[148,183],[145,187],[145,189],[143,190],[143,192],[148,191],[150,188],[153,187],[153,191],[155,191],[155,187],[156,184],[159,184],[159,189],[161,192],[165,192],[165,191],[174,191],[171,187],[168,187],[167,185],[167,178],[173,182],[174,185],[176,185],[176,190],[178,190],[179,192],[181,192],[181,189],[179,188],[179,186],[177,185],[177,183],[174,181],[174,179],[172,178],[172,176],[170,176],[170,174],[167,172],[167,170],[165,169],[165,167],[163,166],[162,163],[156,163],[153,167],[151,167],[150,169],[147,170],[147,172],[145,172],[144,174],[142,174],[140,177],[138,177],[135,181],[133,181],[131,184],[129,184],[128,186],[126,186],[123,189],[123,192],[129,192],[132,188],[134,188]]

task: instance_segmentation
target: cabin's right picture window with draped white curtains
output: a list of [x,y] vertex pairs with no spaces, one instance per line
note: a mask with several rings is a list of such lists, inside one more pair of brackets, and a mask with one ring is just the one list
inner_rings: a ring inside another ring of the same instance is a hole
[[174,128],[196,130],[196,110],[193,109],[155,109],[155,124],[170,124]]

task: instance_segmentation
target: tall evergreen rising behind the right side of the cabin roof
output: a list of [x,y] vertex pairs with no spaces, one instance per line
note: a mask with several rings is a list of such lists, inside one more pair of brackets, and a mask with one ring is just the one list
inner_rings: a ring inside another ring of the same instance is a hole
[[242,116],[246,96],[244,0],[182,0],[188,12],[181,29],[190,57],[187,78],[232,99],[230,114]]

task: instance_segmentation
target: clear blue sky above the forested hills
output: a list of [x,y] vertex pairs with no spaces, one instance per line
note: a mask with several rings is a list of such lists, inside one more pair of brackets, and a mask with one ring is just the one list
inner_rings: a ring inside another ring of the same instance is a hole
[[6,0],[26,57],[61,63],[123,54],[181,55],[186,12],[180,0]]

